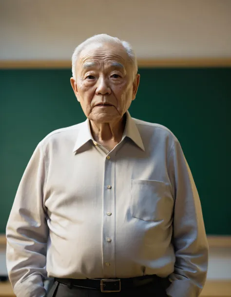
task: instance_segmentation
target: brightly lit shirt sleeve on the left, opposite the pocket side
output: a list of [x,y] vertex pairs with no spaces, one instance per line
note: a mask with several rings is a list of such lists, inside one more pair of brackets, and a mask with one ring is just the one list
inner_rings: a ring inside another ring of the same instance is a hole
[[17,297],[44,297],[48,227],[43,207],[45,161],[39,144],[19,183],[6,226],[6,264]]

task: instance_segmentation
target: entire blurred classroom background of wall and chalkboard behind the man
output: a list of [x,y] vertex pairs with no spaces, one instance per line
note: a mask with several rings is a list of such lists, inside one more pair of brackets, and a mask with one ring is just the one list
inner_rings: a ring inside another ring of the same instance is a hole
[[[129,111],[172,130],[192,170],[210,243],[202,294],[231,296],[231,0],[0,0],[0,276],[35,147],[85,120],[71,56],[100,33],[132,44],[141,80]],[[13,296],[8,284],[0,296]]]

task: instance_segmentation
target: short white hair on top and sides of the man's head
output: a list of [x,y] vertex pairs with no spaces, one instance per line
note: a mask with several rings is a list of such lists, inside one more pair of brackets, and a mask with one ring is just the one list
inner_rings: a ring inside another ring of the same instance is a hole
[[137,73],[138,67],[137,67],[137,60],[135,56],[135,52],[132,49],[132,46],[129,42],[124,40],[119,40],[117,37],[112,37],[107,34],[98,34],[94,35],[93,37],[88,38],[87,40],[80,43],[77,48],[75,49],[73,55],[72,55],[72,76],[76,80],[76,63],[77,59],[81,53],[81,51],[84,49],[85,46],[87,46],[90,43],[93,42],[100,42],[100,43],[117,43],[124,47],[126,50],[126,53],[128,55],[129,62],[131,63],[133,67],[133,79],[135,78],[135,75]]

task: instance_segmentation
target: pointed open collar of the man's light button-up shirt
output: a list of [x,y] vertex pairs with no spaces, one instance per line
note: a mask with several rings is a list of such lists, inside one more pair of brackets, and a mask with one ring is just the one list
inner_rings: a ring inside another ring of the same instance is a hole
[[[73,153],[75,153],[81,146],[83,146],[89,140],[94,141],[91,134],[90,120],[86,119],[80,125],[81,126],[73,149]],[[132,139],[141,150],[145,151],[139,130],[136,127],[134,119],[132,119],[128,111],[126,112],[126,125],[122,139],[124,139],[125,137]]]

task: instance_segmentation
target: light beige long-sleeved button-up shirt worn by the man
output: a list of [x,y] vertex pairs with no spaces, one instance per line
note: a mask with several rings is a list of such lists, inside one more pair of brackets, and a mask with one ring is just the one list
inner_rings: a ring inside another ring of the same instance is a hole
[[172,297],[196,297],[208,245],[200,200],[178,140],[132,119],[111,151],[89,120],[50,133],[20,181],[6,229],[17,297],[43,297],[48,277],[158,275]]

